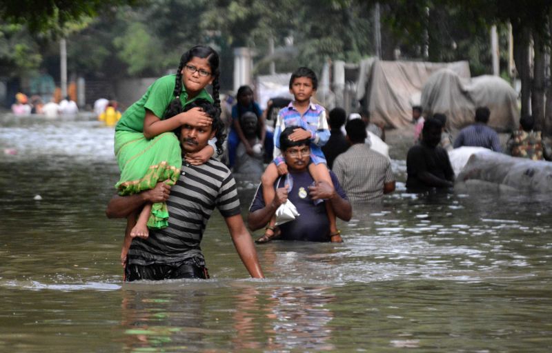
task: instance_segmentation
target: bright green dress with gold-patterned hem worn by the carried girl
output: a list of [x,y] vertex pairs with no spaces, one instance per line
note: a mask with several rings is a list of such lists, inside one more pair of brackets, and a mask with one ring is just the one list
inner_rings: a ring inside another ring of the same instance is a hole
[[[159,181],[174,185],[182,166],[180,143],[172,132],[164,132],[153,139],[144,137],[146,109],[163,118],[170,101],[175,98],[176,75],[157,79],[146,94],[124,112],[115,127],[115,156],[121,170],[121,179],[115,184],[119,195],[137,194],[155,188]],[[213,102],[206,90],[188,100],[184,87],[180,94],[182,106],[202,98]],[[165,228],[168,225],[166,203],[154,203],[148,228]]]

